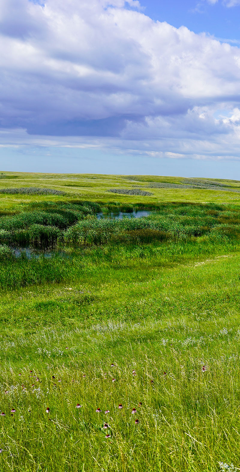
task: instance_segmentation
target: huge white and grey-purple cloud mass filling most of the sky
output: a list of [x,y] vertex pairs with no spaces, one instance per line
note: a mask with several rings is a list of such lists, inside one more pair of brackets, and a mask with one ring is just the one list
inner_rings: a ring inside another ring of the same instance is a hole
[[0,68],[6,145],[238,156],[240,49],[137,0],[0,0]]

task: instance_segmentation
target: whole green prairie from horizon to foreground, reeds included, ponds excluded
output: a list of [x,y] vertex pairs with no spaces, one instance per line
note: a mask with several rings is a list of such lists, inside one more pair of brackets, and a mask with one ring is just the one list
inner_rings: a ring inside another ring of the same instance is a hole
[[240,181],[162,182],[0,174],[0,470],[240,469]]

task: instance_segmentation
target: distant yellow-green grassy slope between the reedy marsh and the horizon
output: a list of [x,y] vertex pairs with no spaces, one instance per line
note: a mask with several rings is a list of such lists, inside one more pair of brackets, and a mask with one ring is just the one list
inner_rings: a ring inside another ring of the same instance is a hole
[[[159,181],[178,184],[182,181],[181,177],[155,177],[140,176],[145,178],[143,182],[129,181],[124,176],[109,176],[99,174],[33,174],[20,172],[4,172],[8,176],[17,176],[16,179],[0,179],[0,188],[37,186],[64,190],[68,193],[68,198],[80,198],[90,201],[101,202],[120,202],[120,203],[158,203],[166,202],[226,202],[240,203],[240,194],[232,192],[220,192],[216,190],[195,190],[195,189],[150,189],[153,193],[150,197],[128,196],[106,193],[107,188],[132,188],[132,185],[145,185],[147,182]],[[87,178],[86,178],[87,177]],[[149,180],[147,180],[149,179]],[[234,187],[240,186],[239,181],[220,180],[219,183],[225,183]],[[68,186],[68,184],[70,186]],[[73,186],[72,186],[73,185]],[[75,185],[75,186],[74,186]],[[147,200],[146,200],[147,198]],[[0,209],[12,208],[19,203],[28,203],[32,201],[60,201],[61,196],[34,196],[34,195],[7,195],[0,194]]]

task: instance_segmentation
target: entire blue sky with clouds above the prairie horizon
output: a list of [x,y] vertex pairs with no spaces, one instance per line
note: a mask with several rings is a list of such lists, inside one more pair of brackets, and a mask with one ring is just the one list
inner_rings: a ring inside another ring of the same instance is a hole
[[240,180],[240,0],[0,0],[0,171]]

